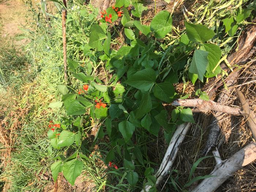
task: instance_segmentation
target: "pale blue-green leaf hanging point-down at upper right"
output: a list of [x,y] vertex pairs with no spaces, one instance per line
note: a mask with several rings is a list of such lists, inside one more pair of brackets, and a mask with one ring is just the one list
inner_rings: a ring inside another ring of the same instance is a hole
[[204,73],[208,66],[208,52],[196,49],[193,55],[189,72],[198,75],[198,79],[203,82]]

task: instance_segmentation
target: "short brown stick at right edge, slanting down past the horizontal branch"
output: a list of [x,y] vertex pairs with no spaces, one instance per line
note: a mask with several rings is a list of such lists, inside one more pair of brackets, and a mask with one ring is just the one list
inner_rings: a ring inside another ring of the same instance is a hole
[[242,94],[241,91],[238,91],[237,92],[237,95],[238,95],[238,98],[240,100],[240,103],[242,105],[242,108],[244,109],[244,112],[245,112],[245,117],[246,117],[246,120],[249,124],[249,127],[251,128],[251,131],[252,131],[252,135],[253,135],[253,138],[254,140],[256,141],[256,123],[255,123],[255,120],[256,120],[256,116],[255,114],[250,110],[250,107],[249,107],[249,104],[248,102],[245,100],[245,97],[244,95]]

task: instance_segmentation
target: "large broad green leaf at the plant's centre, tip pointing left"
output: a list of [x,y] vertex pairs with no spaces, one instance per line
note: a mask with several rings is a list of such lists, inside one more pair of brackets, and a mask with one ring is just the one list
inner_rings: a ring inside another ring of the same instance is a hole
[[148,91],[153,86],[156,78],[155,71],[147,68],[129,76],[125,83],[137,89]]

